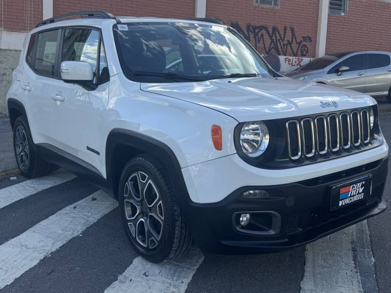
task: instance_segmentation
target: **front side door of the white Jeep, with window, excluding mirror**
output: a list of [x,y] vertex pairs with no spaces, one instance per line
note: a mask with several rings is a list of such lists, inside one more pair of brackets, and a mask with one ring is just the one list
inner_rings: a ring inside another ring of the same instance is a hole
[[[91,85],[56,80],[51,91],[52,124],[56,146],[64,156],[94,167],[101,173],[105,158],[102,129],[109,98],[109,69],[100,31],[89,28],[64,28],[60,61],[90,63],[94,71]],[[59,62],[59,63],[61,63]],[[81,162],[80,159],[84,162]],[[94,170],[95,170],[94,169]]]

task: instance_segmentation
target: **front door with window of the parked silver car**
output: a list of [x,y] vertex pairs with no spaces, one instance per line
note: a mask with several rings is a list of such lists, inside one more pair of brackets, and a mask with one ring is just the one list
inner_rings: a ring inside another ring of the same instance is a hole
[[[365,58],[363,53],[346,57],[332,66],[330,74],[331,85],[345,87],[359,92],[365,91]],[[348,71],[339,72],[341,66],[349,67]]]

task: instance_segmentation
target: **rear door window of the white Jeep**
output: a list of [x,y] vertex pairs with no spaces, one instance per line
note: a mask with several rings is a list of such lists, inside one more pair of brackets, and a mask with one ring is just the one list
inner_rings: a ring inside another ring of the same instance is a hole
[[[34,69],[41,75],[54,77],[58,51],[59,30],[45,31],[38,34],[37,52]],[[28,60],[28,59],[27,59]]]

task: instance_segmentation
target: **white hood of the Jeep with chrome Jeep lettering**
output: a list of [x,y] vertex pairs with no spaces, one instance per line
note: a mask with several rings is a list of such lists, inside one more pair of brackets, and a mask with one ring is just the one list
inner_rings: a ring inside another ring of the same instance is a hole
[[[287,77],[142,83],[140,89],[209,107],[239,122],[304,116],[376,103],[359,92]],[[322,107],[321,102],[337,102],[338,107]]]

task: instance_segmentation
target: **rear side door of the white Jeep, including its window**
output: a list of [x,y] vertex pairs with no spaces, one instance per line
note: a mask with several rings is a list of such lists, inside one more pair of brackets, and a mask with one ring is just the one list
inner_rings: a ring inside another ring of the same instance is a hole
[[30,37],[20,90],[34,143],[52,143],[50,92],[57,78],[60,30],[45,30]]

